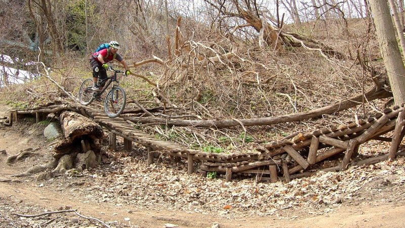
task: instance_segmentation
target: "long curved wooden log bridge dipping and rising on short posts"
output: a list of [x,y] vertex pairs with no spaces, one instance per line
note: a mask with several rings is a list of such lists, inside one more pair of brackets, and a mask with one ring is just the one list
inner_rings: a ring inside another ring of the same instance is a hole
[[[12,125],[13,122],[17,122],[24,116],[33,115],[36,122],[39,122],[44,120],[49,113],[70,110],[90,118],[108,129],[108,142],[113,150],[116,150],[117,136],[124,138],[125,149],[131,150],[132,142],[145,146],[147,148],[148,164],[154,162],[156,155],[165,154],[177,160],[180,158],[187,159],[187,171],[189,174],[197,172],[201,176],[206,176],[208,172],[216,172],[217,175],[223,176],[226,181],[230,181],[232,178],[251,176],[258,180],[270,180],[272,182],[283,180],[288,182],[293,178],[313,175],[319,170],[342,171],[346,170],[350,164],[373,164],[387,158],[394,159],[399,143],[405,135],[403,109],[403,105],[401,107],[386,108],[383,112],[376,113],[375,117],[360,120],[358,124],[351,123],[347,126],[341,125],[334,128],[318,129],[310,133],[295,132],[279,141],[263,143],[257,146],[257,153],[230,155],[206,153],[188,149],[178,143],[156,139],[153,134],[135,129],[136,123],[128,120],[130,114],[110,119],[103,110],[75,103],[10,110],[4,124]],[[381,136],[390,131],[394,131],[391,137]],[[372,139],[390,141],[389,154],[351,162],[351,158],[356,154],[359,145]],[[340,165],[327,169],[317,168],[319,163],[337,155],[343,157]],[[199,165],[197,170],[194,170],[194,163]],[[312,172],[308,170],[312,170]]]

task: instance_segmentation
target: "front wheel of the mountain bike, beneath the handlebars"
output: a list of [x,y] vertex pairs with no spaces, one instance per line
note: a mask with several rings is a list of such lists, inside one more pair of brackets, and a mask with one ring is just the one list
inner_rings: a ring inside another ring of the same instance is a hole
[[104,100],[104,110],[109,118],[115,118],[123,113],[127,102],[125,90],[119,86],[113,87]]

